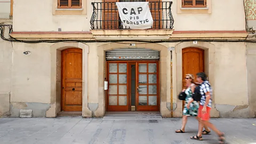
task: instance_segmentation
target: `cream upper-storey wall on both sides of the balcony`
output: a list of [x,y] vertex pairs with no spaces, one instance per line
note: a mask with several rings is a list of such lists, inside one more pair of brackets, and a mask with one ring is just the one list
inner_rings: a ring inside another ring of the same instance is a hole
[[[14,31],[58,31],[58,28],[62,31],[90,31],[91,2],[94,1],[87,1],[83,6],[86,14],[54,15],[54,0],[14,0]],[[180,10],[179,4],[180,0],[177,0],[172,5],[175,30],[245,29],[243,0],[212,0],[209,2],[211,13],[196,10],[196,14],[194,9]]]

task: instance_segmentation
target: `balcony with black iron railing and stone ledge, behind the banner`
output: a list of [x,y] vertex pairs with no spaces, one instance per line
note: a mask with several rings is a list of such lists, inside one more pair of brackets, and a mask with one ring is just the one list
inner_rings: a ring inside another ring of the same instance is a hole
[[169,38],[173,32],[172,2],[149,2],[153,26],[144,30],[123,26],[116,2],[92,2],[92,6],[91,31],[97,39],[148,39],[148,36],[163,39]]

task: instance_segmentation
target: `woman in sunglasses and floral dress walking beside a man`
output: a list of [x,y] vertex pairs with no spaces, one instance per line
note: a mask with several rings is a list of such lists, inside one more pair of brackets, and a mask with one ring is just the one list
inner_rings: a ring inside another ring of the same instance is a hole
[[[187,84],[187,89],[183,89],[182,92],[185,91],[187,94],[185,105],[183,109],[183,117],[182,117],[182,127],[180,130],[176,130],[176,133],[185,133],[185,126],[188,121],[188,116],[194,116],[197,118],[199,104],[198,102],[194,101],[192,98],[192,93],[195,91],[195,77],[192,74],[187,74],[185,77],[185,81]],[[197,118],[198,119],[198,118]]]

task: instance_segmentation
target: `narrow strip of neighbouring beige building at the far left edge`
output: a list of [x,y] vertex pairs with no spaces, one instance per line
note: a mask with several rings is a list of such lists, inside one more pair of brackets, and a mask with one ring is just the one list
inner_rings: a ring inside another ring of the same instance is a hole
[[0,117],[9,115],[12,72],[12,43],[1,37],[9,36],[12,26],[11,0],[0,0]]

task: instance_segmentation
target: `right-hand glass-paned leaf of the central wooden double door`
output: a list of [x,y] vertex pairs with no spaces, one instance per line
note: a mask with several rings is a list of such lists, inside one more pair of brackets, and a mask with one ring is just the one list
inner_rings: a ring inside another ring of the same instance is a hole
[[137,110],[158,111],[158,61],[137,62]]

